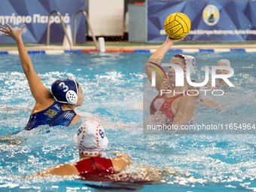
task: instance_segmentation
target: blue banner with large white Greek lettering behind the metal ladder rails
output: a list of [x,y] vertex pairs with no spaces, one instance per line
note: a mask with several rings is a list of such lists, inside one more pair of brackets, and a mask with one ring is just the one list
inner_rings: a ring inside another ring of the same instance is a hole
[[[59,11],[62,20],[70,25],[73,31],[75,13],[84,10],[84,0],[1,0],[0,25],[9,23],[15,29],[26,24],[23,29],[25,43],[46,43],[48,15],[51,11]],[[57,14],[50,17],[50,43],[61,43],[64,30]],[[73,34],[72,34],[73,35]],[[86,41],[86,25],[83,14],[78,15],[77,43]],[[0,32],[0,43],[14,43]]]

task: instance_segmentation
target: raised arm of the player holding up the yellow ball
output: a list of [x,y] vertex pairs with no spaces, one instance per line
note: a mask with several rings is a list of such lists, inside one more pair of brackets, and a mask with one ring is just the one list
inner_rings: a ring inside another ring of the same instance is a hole
[[163,78],[165,77],[163,71],[160,69],[160,64],[163,60],[163,57],[166,55],[167,51],[169,50],[169,48],[172,47],[172,45],[177,41],[180,41],[180,40],[173,40],[167,36],[166,41],[151,55],[151,57],[148,59],[148,62],[146,63],[146,72],[147,72],[149,81],[151,81],[152,71],[157,71],[156,72],[157,90],[160,90],[161,84],[163,83]]

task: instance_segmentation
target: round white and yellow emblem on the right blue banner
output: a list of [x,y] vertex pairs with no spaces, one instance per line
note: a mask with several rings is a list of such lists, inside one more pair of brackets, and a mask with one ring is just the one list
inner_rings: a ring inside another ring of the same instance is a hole
[[215,26],[220,20],[220,12],[215,5],[207,5],[203,9],[203,21],[208,26]]

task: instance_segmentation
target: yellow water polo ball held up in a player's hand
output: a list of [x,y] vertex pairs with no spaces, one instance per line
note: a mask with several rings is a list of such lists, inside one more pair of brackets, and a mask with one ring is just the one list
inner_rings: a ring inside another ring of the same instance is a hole
[[190,31],[191,23],[187,15],[182,13],[170,14],[164,22],[164,30],[169,38],[181,39]]

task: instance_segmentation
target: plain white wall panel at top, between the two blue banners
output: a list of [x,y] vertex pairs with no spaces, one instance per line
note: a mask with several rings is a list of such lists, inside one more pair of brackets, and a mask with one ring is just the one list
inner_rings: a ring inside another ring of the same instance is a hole
[[94,35],[123,36],[123,12],[124,0],[89,0],[88,15]]

